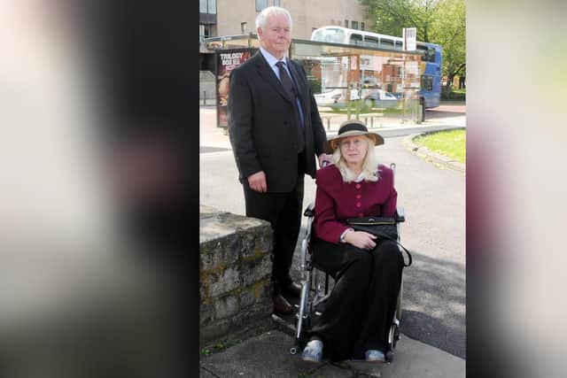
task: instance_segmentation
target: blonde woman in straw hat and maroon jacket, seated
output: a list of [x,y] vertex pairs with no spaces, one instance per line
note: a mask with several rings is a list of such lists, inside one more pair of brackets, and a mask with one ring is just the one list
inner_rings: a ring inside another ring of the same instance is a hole
[[396,243],[346,224],[349,218],[396,212],[392,170],[378,165],[374,154],[383,143],[358,120],[344,122],[326,143],[333,164],[317,172],[312,258],[336,283],[308,334],[304,360],[321,361],[323,349],[331,360],[385,360],[403,258]]

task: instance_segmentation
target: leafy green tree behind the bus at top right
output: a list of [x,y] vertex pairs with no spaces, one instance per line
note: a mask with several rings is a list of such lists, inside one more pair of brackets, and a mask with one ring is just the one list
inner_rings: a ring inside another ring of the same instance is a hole
[[417,40],[441,45],[447,89],[454,76],[466,68],[465,0],[360,0],[374,30],[402,35],[402,28],[416,27]]

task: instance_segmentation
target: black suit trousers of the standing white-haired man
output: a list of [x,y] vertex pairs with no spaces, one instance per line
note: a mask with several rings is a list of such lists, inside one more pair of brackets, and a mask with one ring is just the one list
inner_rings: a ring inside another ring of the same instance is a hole
[[[244,183],[246,216],[267,220],[272,230],[272,282],[274,295],[291,283],[290,269],[298,242],[303,206],[305,154],[299,154],[298,177],[291,191],[259,193]],[[268,186],[269,189],[269,186]]]

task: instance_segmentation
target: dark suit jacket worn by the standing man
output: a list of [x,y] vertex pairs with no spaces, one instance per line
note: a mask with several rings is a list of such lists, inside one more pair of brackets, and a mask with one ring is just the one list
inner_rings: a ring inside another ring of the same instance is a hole
[[[303,67],[291,61],[289,68],[305,118],[306,173],[315,178],[315,154],[327,136]],[[228,108],[239,180],[247,185],[248,176],[264,171],[268,192],[291,191],[298,176],[297,103],[260,51],[230,73]]]

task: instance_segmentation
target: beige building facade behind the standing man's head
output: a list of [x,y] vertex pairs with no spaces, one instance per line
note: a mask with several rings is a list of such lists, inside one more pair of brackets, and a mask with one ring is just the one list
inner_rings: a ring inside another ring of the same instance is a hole
[[199,41],[209,36],[256,33],[258,13],[268,6],[291,12],[292,38],[310,39],[318,27],[372,30],[358,0],[199,0]]

